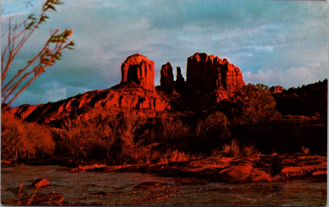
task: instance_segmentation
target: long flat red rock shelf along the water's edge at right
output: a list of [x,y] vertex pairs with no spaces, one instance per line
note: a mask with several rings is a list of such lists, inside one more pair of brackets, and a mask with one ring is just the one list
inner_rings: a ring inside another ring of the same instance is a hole
[[177,177],[183,184],[269,182],[308,176],[327,176],[327,157],[301,153],[250,156],[237,159],[206,157],[168,164],[101,167],[92,171],[158,174],[159,176]]

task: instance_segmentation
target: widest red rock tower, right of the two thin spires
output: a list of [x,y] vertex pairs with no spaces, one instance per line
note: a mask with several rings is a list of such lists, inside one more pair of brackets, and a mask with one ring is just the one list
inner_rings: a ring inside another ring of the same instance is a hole
[[242,72],[227,59],[206,53],[195,53],[187,60],[186,82],[195,89],[236,92],[245,85]]

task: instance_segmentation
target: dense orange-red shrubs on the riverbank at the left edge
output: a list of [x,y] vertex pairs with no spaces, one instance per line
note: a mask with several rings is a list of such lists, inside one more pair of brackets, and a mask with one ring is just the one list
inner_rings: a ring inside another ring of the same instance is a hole
[[42,158],[53,155],[54,151],[55,143],[48,127],[24,122],[6,113],[1,115],[2,157]]

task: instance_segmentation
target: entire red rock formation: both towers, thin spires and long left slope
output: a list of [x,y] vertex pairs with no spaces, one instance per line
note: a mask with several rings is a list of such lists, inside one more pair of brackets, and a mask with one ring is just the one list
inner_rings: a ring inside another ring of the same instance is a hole
[[[5,113],[38,123],[60,121],[72,114],[81,115],[86,113],[86,109],[97,107],[129,108],[153,117],[156,112],[171,108],[155,91],[154,64],[154,61],[136,53],[122,63],[121,82],[110,89],[89,91],[54,103],[22,105]],[[204,93],[216,93],[217,102],[229,98],[244,85],[242,72],[237,66],[206,53],[195,53],[188,58],[187,81],[184,81],[180,67],[177,67],[176,81],[173,80],[170,62],[161,69],[161,86],[192,91],[203,89]]]

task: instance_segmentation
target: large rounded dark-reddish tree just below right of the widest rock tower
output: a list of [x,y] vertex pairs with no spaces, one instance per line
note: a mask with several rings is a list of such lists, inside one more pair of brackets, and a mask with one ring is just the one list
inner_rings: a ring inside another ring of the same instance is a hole
[[264,122],[281,116],[275,110],[275,99],[271,95],[268,86],[263,84],[248,84],[237,93],[234,102],[237,109],[234,110],[235,120],[248,122]]

